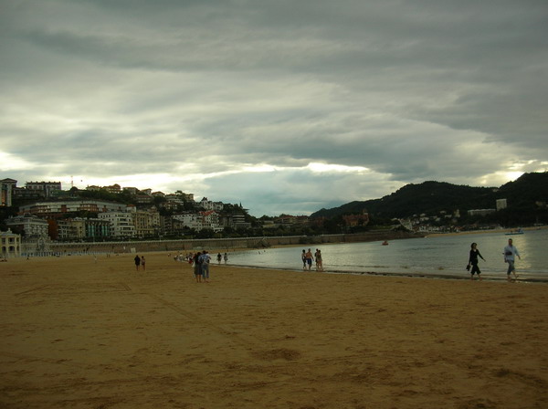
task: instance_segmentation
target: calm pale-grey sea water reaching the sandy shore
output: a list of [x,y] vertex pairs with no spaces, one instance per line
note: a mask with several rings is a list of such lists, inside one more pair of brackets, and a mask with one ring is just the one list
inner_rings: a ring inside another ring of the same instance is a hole
[[[502,249],[512,238],[522,260],[516,260],[520,278],[548,281],[548,229],[529,230],[523,235],[480,233],[456,236],[430,236],[393,240],[389,246],[381,242],[311,246],[312,253],[321,249],[326,272],[396,273],[408,276],[469,278],[465,269],[472,242],[487,260],[479,259],[483,278],[506,279],[507,265]],[[229,264],[248,267],[269,267],[301,270],[302,247],[269,248],[230,254]],[[312,265],[314,270],[315,265]]]

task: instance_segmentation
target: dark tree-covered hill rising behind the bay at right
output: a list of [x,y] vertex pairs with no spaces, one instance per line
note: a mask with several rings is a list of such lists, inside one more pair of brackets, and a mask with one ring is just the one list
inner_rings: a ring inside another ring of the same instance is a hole
[[435,215],[440,211],[460,214],[470,209],[495,208],[497,199],[507,199],[510,209],[537,208],[535,202],[548,201],[548,173],[524,173],[514,182],[501,187],[472,187],[428,181],[406,186],[381,199],[354,201],[331,209],[321,209],[311,217],[335,217],[361,213],[363,210],[377,217],[407,217]]

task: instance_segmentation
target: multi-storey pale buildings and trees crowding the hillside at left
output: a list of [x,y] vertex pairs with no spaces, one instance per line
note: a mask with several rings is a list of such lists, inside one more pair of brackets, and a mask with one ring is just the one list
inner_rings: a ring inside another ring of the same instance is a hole
[[[177,191],[110,186],[72,187],[60,182],[0,181],[1,205],[16,211],[3,221],[12,232],[55,241],[100,241],[163,238],[210,238],[249,234],[252,228],[275,231],[280,227],[310,225],[306,215],[280,215],[258,220],[241,204],[224,204]],[[347,217],[349,225],[367,225],[368,215]]]

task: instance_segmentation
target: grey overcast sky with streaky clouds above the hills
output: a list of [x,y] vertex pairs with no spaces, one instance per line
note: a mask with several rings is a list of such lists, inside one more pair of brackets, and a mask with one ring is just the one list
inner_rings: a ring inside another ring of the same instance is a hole
[[0,0],[0,179],[310,215],[548,168],[546,0]]

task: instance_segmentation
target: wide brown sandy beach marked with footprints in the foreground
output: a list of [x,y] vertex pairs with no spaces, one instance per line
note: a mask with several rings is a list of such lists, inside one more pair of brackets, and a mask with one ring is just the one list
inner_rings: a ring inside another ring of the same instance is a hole
[[546,408],[545,284],[0,263],[2,408]]

